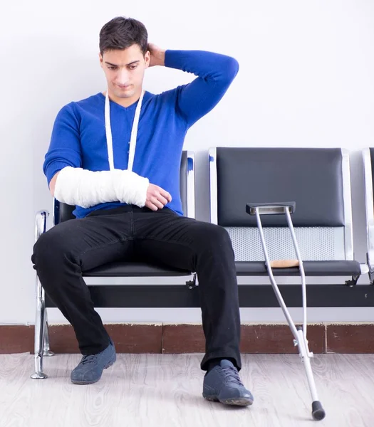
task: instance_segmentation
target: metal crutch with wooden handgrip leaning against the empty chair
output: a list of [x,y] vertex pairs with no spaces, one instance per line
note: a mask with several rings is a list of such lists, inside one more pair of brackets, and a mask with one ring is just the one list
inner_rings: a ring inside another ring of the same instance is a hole
[[[296,235],[294,231],[294,225],[291,220],[291,214],[294,213],[296,209],[295,202],[282,202],[282,203],[250,203],[246,204],[246,213],[249,215],[256,215],[257,226],[259,227],[259,233],[261,237],[262,249],[264,251],[264,256],[266,260],[266,268],[269,273],[269,278],[271,280],[271,285],[273,286],[274,292],[276,294],[276,298],[279,301],[279,305],[281,305],[281,309],[284,312],[284,315],[289,322],[289,327],[291,328],[291,332],[294,335],[294,344],[298,346],[298,352],[301,357],[301,361],[306,370],[306,376],[308,378],[309,389],[311,391],[312,398],[312,416],[315,420],[322,420],[325,418],[326,413],[323,410],[321,402],[318,400],[316,384],[314,382],[313,371],[311,369],[311,357],[313,357],[313,353],[309,352],[308,349],[308,339],[306,339],[306,282],[305,282],[305,272],[303,268],[303,261],[301,260],[300,251],[298,250],[298,243],[296,241]],[[269,260],[269,254],[266,248],[266,242],[264,238],[264,230],[261,224],[260,215],[278,215],[278,214],[286,214],[287,223],[289,225],[289,229],[291,231],[292,241],[294,243],[294,248],[296,251],[297,260]],[[279,291],[278,285],[274,279],[272,268],[289,268],[289,267],[298,267],[301,274],[301,286],[303,291],[303,327],[297,327],[294,324],[294,321],[289,314],[289,310],[287,310],[286,304],[284,303],[281,292]]]

